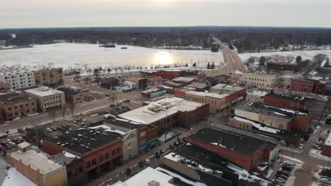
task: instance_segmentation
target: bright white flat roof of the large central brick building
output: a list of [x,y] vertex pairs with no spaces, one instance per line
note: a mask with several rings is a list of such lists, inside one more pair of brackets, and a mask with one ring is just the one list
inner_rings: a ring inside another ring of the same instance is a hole
[[193,111],[203,105],[204,104],[186,101],[178,97],[167,97],[118,116],[137,123],[151,124],[165,118],[166,115],[170,116],[178,111]]

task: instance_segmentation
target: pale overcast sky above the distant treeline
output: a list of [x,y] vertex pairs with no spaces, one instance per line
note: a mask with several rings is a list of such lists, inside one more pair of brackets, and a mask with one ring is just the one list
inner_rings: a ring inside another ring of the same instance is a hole
[[331,27],[331,0],[0,0],[0,28]]

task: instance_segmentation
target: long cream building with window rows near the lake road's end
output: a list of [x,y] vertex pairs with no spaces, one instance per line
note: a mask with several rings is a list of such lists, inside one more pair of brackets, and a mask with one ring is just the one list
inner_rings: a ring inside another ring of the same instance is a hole
[[259,87],[272,87],[277,80],[277,75],[244,73],[241,82],[245,85],[255,85]]

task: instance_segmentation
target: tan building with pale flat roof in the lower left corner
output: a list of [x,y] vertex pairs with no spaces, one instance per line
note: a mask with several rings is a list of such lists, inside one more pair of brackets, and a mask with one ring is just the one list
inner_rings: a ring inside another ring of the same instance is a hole
[[48,159],[47,154],[31,149],[30,144],[18,144],[18,151],[7,155],[11,166],[36,185],[67,185],[66,167]]

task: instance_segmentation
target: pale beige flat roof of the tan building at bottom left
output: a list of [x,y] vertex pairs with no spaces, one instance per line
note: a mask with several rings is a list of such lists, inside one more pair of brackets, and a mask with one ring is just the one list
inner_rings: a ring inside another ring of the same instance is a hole
[[28,151],[13,151],[10,156],[15,159],[21,160],[23,163],[28,164],[31,168],[40,170],[40,173],[47,174],[58,168],[62,168],[61,165],[47,158],[47,154],[37,152],[34,150]]

